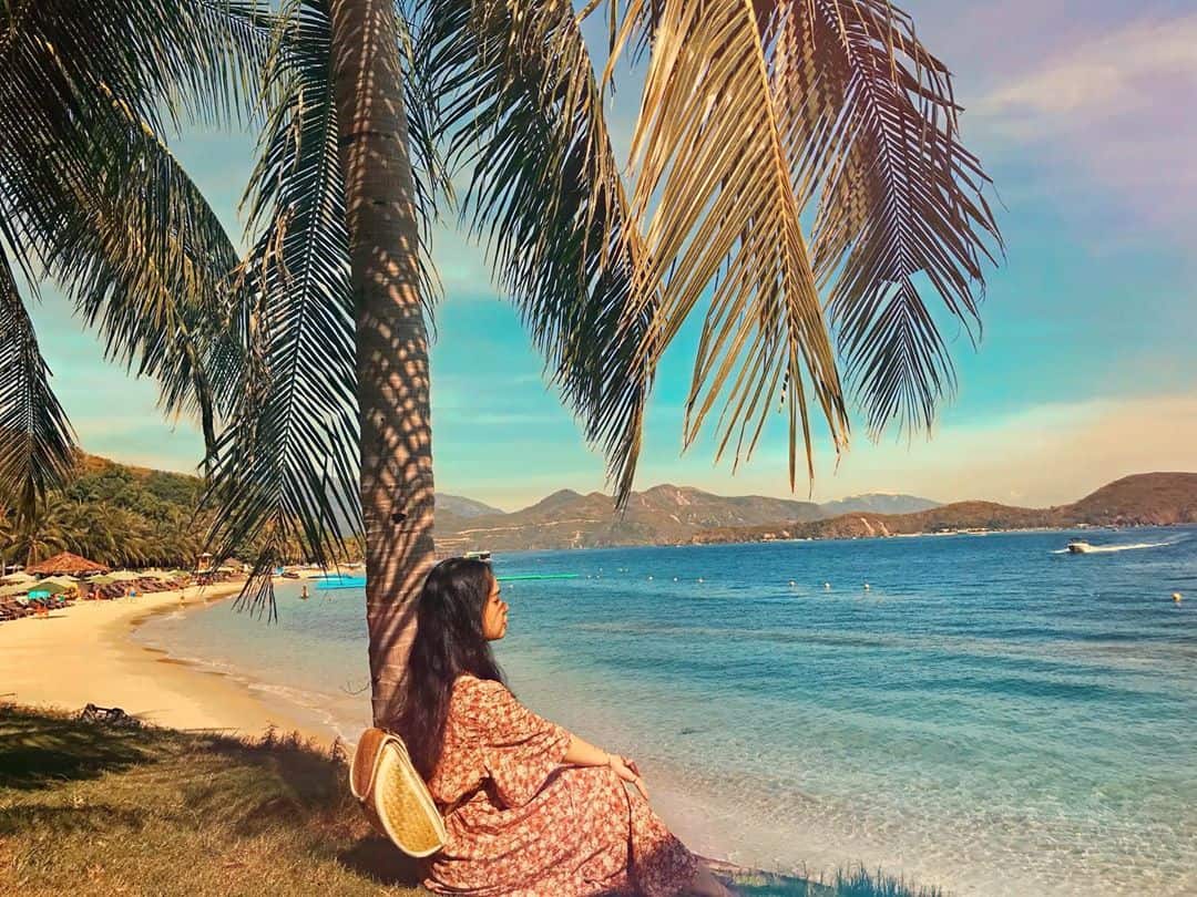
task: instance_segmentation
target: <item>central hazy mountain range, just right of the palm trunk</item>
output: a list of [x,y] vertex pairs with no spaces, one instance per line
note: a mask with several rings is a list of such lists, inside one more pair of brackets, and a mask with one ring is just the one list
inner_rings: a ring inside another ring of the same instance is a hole
[[821,509],[810,501],[712,495],[672,484],[632,493],[626,512],[618,515],[609,495],[561,489],[510,514],[466,518],[438,508],[436,537],[437,548],[446,551],[654,545],[691,542],[699,532],[716,527],[820,517]]

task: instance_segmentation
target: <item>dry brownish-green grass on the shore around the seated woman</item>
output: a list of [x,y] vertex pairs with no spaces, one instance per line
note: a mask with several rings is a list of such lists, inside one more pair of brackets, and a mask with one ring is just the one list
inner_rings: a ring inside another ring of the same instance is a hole
[[[863,869],[733,878],[745,897],[943,897]],[[0,893],[426,895],[417,880],[335,750],[0,706]]]

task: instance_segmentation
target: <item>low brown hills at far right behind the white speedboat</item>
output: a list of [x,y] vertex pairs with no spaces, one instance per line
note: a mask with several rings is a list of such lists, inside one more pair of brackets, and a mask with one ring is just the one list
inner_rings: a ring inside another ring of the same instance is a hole
[[910,514],[852,513],[816,521],[719,527],[695,542],[760,542],[778,538],[868,538],[959,530],[1064,529],[1073,526],[1168,526],[1197,523],[1197,474],[1136,474],[1070,505],[1025,508],[992,501],[958,501]]

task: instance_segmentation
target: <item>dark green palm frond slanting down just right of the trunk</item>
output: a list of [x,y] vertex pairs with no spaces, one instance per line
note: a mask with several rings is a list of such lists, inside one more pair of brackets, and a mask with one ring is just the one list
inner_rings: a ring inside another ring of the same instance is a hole
[[418,72],[443,100],[449,158],[470,169],[462,214],[551,378],[632,487],[656,356],[655,291],[610,148],[579,23],[565,0],[420,5]]

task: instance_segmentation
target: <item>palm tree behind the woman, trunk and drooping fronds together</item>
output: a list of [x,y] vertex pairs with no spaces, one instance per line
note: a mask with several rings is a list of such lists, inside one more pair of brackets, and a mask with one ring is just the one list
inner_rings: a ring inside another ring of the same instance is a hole
[[[685,444],[719,404],[739,463],[783,408],[791,488],[812,405],[839,451],[847,397],[876,434],[952,391],[941,328],[973,334],[1001,240],[948,69],[888,0],[287,0],[273,24],[217,535],[262,547],[243,597],[273,612],[285,544],[329,560],[364,529],[376,719],[433,557],[425,252],[451,176],[620,502],[693,315]],[[625,176],[603,98],[637,54]]]

